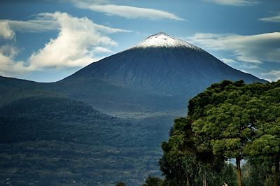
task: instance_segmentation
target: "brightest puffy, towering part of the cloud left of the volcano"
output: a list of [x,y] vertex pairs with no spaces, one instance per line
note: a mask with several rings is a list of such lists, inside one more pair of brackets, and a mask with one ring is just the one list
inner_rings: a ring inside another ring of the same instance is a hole
[[59,35],[29,57],[29,64],[34,69],[86,66],[97,59],[94,47],[117,45],[111,38],[102,35],[99,28],[86,17],[71,17],[58,12],[41,16],[59,24]]

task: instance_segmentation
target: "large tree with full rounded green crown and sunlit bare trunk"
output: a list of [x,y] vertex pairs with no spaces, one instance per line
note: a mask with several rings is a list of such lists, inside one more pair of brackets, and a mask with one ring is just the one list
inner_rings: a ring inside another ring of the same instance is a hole
[[193,119],[193,131],[209,139],[214,155],[236,159],[239,186],[243,149],[254,130],[254,115],[248,109],[248,104],[255,98],[248,91],[250,88],[244,87],[243,81],[223,81],[211,85],[190,100],[188,111],[188,117]]

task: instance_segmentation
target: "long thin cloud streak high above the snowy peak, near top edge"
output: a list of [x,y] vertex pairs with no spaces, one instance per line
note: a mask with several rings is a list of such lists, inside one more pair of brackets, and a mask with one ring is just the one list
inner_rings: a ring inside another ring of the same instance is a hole
[[106,15],[118,15],[128,19],[135,18],[148,18],[149,20],[179,20],[184,19],[169,13],[164,10],[157,10],[152,8],[140,8],[134,6],[120,6],[114,4],[100,4],[97,2],[85,2],[85,1],[72,1],[78,8],[89,9],[97,12],[106,13]]

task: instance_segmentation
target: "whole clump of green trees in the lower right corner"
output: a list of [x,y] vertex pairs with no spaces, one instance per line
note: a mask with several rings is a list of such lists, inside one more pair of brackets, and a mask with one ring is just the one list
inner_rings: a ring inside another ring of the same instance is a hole
[[[262,161],[265,157],[274,162],[267,166],[270,169],[274,167],[272,172],[279,176],[279,87],[280,81],[246,85],[242,80],[225,80],[190,99],[188,116],[174,121],[169,141],[162,143],[164,155],[160,159],[160,167],[167,181],[173,181],[174,185],[205,185],[206,182],[215,185],[215,175],[223,175],[223,170],[226,170],[225,166],[221,168],[218,165],[223,164],[224,159],[232,158],[238,160],[239,185],[239,160],[242,158]],[[248,165],[256,166],[252,161]],[[247,169],[244,183],[258,185],[249,179],[252,170]],[[262,178],[266,184],[271,181],[272,172],[268,171],[265,179]],[[209,178],[210,175],[212,177]],[[278,176],[274,176],[274,185]],[[197,177],[202,180],[197,181]],[[235,185],[235,181],[232,180],[230,185]]]

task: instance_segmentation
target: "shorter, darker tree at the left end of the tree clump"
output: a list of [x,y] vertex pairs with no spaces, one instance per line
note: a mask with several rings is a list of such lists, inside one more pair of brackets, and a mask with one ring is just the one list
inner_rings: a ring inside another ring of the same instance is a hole
[[167,185],[207,185],[207,180],[214,182],[214,173],[221,171],[224,161],[214,156],[209,148],[200,146],[200,141],[203,139],[194,135],[188,118],[174,120],[169,141],[162,143],[164,155],[159,161]]

